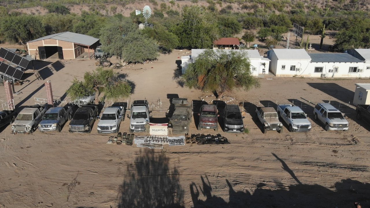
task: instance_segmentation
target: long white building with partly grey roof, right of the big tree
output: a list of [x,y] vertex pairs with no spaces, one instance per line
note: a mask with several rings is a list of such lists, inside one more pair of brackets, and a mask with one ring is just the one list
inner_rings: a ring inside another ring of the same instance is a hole
[[304,49],[273,49],[268,51],[268,58],[270,71],[277,77],[370,77],[366,61],[348,53],[309,54]]

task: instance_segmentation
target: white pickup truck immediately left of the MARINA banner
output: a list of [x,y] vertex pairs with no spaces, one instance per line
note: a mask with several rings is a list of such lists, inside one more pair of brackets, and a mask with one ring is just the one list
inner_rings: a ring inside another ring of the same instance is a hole
[[130,133],[145,131],[145,124],[150,123],[149,120],[149,103],[147,100],[135,100],[130,109]]

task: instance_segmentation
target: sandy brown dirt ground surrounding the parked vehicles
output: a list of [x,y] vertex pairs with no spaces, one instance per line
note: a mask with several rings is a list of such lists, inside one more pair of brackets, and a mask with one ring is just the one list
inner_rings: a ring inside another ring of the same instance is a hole
[[[175,50],[149,64],[117,69],[134,84],[130,98],[147,98],[154,117],[165,117],[175,96],[209,103],[244,101],[249,134],[219,132],[227,145],[190,145],[151,150],[106,144],[110,135],[71,134],[68,123],[60,133],[11,134],[0,131],[0,207],[353,207],[370,206],[369,124],[357,121],[354,83],[365,79],[284,78],[266,75],[261,87],[234,91],[216,100],[210,92],[179,83],[178,61],[189,51]],[[35,62],[36,72],[16,85],[18,109],[46,98],[43,84],[50,80],[55,99],[67,100],[65,90],[74,77],[95,68],[94,60]],[[5,101],[4,91],[0,100]],[[159,107],[158,100],[162,103]],[[312,118],[314,104],[330,101],[346,113],[349,131],[326,132]],[[1,101],[0,101],[1,102]],[[111,101],[107,101],[107,105]],[[294,103],[308,114],[313,129],[307,133],[263,134],[253,119],[255,106]],[[62,104],[63,105],[63,104]],[[1,109],[2,110],[2,109]],[[195,119],[196,120],[196,117]],[[127,132],[129,120],[121,124]],[[216,134],[213,130],[191,133]]]

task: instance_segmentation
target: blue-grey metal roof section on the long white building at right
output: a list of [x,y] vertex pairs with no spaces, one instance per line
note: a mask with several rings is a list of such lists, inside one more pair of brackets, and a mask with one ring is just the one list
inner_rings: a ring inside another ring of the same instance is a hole
[[311,62],[341,63],[341,62],[364,62],[348,53],[312,53],[309,54]]

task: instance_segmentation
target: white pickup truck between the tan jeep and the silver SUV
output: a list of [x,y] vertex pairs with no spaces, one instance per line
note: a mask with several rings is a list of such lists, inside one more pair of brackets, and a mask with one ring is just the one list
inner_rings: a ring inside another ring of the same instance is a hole
[[307,119],[307,115],[298,106],[290,104],[277,105],[277,116],[288,125],[290,132],[292,131],[311,131],[311,122]]

